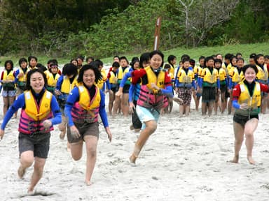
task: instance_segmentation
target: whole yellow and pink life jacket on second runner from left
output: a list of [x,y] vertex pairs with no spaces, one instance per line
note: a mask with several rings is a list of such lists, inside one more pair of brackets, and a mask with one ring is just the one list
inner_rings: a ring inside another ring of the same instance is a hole
[[90,100],[88,89],[83,85],[78,85],[79,101],[71,109],[71,117],[74,122],[82,124],[83,122],[93,123],[98,121],[99,106],[101,94],[99,88],[95,87],[95,96]]

